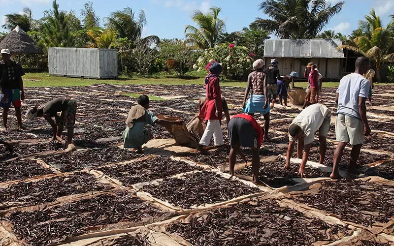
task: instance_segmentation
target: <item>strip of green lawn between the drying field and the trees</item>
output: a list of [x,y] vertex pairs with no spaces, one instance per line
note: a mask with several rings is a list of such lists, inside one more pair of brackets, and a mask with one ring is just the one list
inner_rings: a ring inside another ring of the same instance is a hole
[[[69,87],[69,86],[89,86],[94,84],[112,84],[112,85],[204,85],[204,74],[202,72],[187,74],[185,79],[178,78],[171,74],[158,74],[150,77],[133,77],[120,76],[117,79],[81,79],[61,76],[52,76],[48,73],[27,73],[23,76],[25,87]],[[245,81],[223,80],[220,81],[222,86],[243,87]],[[307,82],[296,82],[297,87],[307,87]],[[338,87],[338,82],[323,82],[323,87]]]

